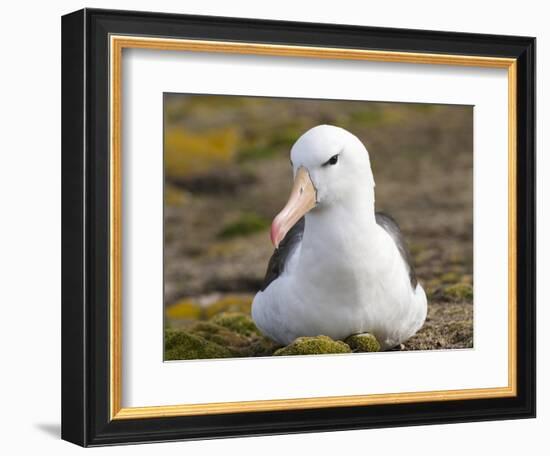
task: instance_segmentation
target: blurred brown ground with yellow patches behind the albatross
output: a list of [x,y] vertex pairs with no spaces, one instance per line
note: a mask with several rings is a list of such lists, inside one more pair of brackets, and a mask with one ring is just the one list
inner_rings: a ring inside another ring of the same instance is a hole
[[409,349],[471,347],[473,109],[166,94],[165,322],[247,314],[292,184],[289,152],[328,123],[366,145],[377,210],[400,224],[430,298]]

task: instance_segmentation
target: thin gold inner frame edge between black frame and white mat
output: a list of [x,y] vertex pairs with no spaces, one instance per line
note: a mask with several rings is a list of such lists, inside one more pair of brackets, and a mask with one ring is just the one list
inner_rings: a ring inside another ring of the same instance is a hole
[[[453,65],[508,70],[508,386],[426,392],[403,392],[353,396],[274,399],[246,402],[122,407],[122,181],[121,181],[121,95],[123,49],[195,51],[253,54],[317,59],[369,60],[376,62]],[[517,179],[517,61],[511,58],[387,52],[242,42],[222,42],[110,36],[110,415],[111,419],[155,418],[220,413],[296,410],[325,407],[396,404],[458,399],[511,397],[517,394],[517,290],[516,290],[516,179]]]

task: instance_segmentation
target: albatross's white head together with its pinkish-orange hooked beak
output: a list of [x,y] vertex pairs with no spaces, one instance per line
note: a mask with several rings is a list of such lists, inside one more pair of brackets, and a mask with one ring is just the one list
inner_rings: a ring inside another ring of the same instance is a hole
[[369,153],[355,135],[343,128],[319,125],[308,130],[292,146],[290,159],[294,186],[271,226],[275,247],[313,208],[347,204],[356,198],[374,205]]

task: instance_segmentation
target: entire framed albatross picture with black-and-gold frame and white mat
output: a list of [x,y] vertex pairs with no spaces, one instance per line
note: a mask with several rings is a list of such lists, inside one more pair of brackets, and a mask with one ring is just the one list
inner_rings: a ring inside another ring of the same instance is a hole
[[62,437],[535,416],[535,39],[62,19]]

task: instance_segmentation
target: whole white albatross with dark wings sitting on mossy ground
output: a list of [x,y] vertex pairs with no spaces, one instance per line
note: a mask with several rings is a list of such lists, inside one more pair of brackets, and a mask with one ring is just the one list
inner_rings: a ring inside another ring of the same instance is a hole
[[319,125],[290,157],[294,184],[271,225],[275,252],[254,322],[283,345],[361,333],[383,350],[405,342],[424,324],[426,293],[397,223],[375,212],[367,149],[350,132]]

